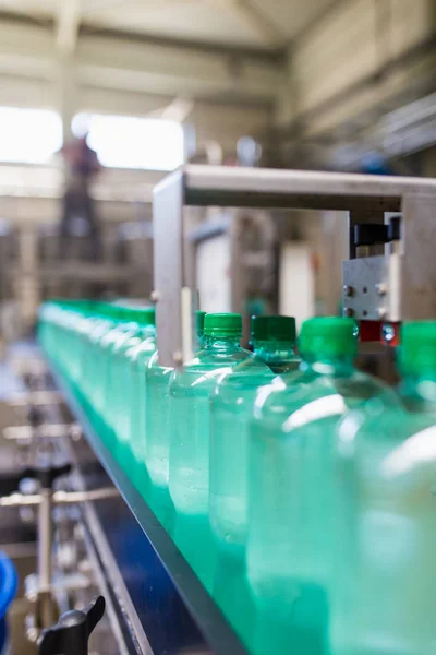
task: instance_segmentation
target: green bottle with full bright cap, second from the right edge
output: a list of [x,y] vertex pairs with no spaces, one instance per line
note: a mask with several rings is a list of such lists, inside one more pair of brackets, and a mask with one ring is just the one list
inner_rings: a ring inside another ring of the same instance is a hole
[[348,408],[391,394],[359,372],[351,319],[305,321],[300,370],[257,393],[249,444],[247,575],[256,655],[329,653],[335,428]]

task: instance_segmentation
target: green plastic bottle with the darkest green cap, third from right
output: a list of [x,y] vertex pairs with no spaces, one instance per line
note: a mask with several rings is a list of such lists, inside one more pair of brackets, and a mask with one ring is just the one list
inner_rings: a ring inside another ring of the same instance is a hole
[[253,619],[244,576],[249,421],[259,386],[300,361],[294,319],[253,317],[251,333],[254,357],[220,376],[210,396],[209,516],[218,545],[213,594],[243,640]]

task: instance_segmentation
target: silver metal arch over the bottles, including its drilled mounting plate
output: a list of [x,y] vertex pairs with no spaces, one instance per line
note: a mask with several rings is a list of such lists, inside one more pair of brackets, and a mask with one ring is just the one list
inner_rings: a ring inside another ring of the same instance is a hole
[[[189,282],[183,225],[183,209],[189,205],[347,211],[349,260],[344,264],[343,299],[348,315],[363,321],[400,321],[436,314],[436,258],[433,255],[436,181],[185,166],[169,175],[154,191],[154,299],[162,366],[180,366],[192,353],[192,310],[196,294]],[[383,226],[392,213],[401,214],[398,242],[392,247],[388,239],[375,240],[374,243],[386,243],[382,260],[360,258],[355,226]]]

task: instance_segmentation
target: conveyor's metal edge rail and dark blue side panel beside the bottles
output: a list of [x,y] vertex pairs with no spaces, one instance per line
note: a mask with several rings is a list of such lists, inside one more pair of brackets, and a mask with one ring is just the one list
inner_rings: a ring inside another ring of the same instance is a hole
[[[87,489],[118,487],[117,498],[88,503],[98,555],[114,572],[112,591],[142,655],[244,655],[245,650],[177,546],[88,421],[68,384],[51,371],[86,438],[71,446]],[[101,478],[105,478],[104,481]]]

